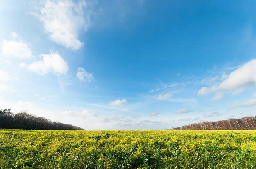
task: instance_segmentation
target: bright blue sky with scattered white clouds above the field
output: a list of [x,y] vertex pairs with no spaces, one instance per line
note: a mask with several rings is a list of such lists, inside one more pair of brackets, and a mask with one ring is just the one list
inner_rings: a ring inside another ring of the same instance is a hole
[[253,1],[4,0],[0,108],[87,130],[254,116]]

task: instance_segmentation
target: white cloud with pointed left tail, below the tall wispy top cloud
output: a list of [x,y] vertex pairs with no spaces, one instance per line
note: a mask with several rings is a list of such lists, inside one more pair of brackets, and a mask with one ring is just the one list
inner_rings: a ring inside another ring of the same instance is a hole
[[30,65],[21,63],[20,67],[26,67],[28,70],[37,72],[41,75],[53,72],[55,75],[66,74],[69,70],[67,62],[59,55],[59,53],[51,52],[49,54],[41,54],[42,60],[34,62]]

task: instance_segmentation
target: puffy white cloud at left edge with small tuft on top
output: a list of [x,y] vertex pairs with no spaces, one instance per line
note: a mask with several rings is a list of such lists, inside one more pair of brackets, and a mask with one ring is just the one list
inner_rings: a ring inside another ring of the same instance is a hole
[[18,40],[16,33],[13,33],[13,37],[15,40],[3,40],[1,43],[2,54],[4,56],[18,57],[21,59],[31,58],[33,55],[28,45],[24,43],[21,38]]

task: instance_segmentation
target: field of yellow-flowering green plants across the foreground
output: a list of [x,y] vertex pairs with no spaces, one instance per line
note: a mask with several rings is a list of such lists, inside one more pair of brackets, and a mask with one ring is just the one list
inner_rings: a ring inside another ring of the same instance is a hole
[[256,131],[0,129],[0,168],[256,168]]

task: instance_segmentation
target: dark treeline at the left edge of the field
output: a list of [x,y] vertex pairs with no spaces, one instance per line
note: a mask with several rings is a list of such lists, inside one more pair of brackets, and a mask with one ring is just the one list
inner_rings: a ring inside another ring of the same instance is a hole
[[10,109],[0,110],[0,128],[4,129],[26,129],[26,130],[84,130],[81,127],[60,122],[52,122],[44,117],[36,117],[21,111],[13,114]]

